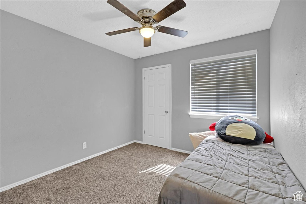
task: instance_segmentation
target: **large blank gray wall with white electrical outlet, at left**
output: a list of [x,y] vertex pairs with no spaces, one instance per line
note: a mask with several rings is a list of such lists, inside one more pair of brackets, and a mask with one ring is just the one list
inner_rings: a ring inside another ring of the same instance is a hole
[[1,187],[134,140],[134,59],[0,19]]

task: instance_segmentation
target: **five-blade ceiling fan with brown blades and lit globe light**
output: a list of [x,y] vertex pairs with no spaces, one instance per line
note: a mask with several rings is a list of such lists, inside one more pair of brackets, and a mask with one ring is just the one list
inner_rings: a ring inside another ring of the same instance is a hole
[[184,8],[186,6],[186,3],[183,0],[174,0],[158,13],[156,13],[152,9],[141,9],[137,12],[137,15],[117,0],[107,0],[107,3],[114,6],[116,9],[135,20],[137,23],[140,23],[142,26],[140,28],[134,27],[108,32],[106,33],[106,35],[117,35],[121,33],[139,30],[140,34],[144,37],[144,47],[148,47],[151,46],[151,37],[154,35],[155,31],[175,35],[182,38],[184,38],[188,34],[187,31],[182,31],[175,28],[169,28],[161,25],[156,27],[152,26],[153,24],[161,22],[165,18]]

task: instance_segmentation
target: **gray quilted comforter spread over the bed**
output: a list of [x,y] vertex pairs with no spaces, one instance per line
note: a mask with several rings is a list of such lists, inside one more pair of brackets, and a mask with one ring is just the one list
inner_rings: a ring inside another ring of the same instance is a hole
[[[294,201],[297,191],[304,195],[300,202]],[[305,198],[305,190],[275,149],[209,139],[167,177],[158,203],[300,204]]]

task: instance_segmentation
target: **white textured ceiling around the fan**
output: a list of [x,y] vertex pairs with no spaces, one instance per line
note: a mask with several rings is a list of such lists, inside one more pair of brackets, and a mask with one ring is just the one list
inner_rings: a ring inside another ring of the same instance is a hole
[[[121,0],[132,12],[149,8],[156,12],[171,0]],[[187,6],[159,24],[188,31],[185,38],[156,34],[156,53],[226,39],[271,27],[279,0],[185,0]],[[106,32],[140,27],[106,0],[1,0],[0,9],[134,59],[153,55],[150,47],[139,50],[139,32],[108,36]]]

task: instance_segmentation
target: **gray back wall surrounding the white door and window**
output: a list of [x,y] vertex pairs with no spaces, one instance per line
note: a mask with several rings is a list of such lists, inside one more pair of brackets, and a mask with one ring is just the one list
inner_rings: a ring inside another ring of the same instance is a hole
[[[174,40],[181,40],[173,36]],[[172,64],[172,147],[192,151],[188,133],[207,131],[218,120],[190,118],[189,61],[205,57],[258,50],[258,117],[257,123],[270,132],[270,32],[264,30],[212,43],[174,50],[156,56],[136,59],[135,62],[135,131],[136,140],[142,141],[142,69]]]

